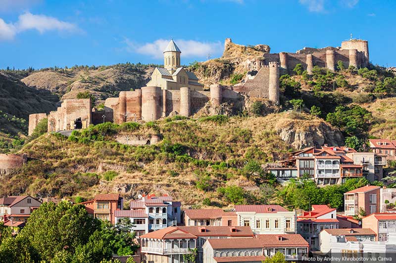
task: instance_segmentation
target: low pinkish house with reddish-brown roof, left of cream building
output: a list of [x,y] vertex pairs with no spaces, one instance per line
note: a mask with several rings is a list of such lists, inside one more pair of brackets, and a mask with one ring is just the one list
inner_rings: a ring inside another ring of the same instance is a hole
[[224,212],[222,209],[188,209],[184,211],[185,225],[237,225],[235,212]]

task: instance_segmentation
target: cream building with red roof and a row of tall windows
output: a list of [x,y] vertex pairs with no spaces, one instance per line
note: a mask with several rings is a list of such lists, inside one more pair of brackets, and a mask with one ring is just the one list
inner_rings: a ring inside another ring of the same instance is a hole
[[279,205],[236,205],[237,225],[255,234],[296,233],[296,212]]

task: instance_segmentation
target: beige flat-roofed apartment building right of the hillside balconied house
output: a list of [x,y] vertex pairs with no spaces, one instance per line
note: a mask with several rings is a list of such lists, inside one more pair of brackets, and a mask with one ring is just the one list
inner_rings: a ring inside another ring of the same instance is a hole
[[347,153],[355,165],[363,166],[363,177],[369,181],[379,181],[383,178],[383,167],[386,165],[386,155],[373,152]]

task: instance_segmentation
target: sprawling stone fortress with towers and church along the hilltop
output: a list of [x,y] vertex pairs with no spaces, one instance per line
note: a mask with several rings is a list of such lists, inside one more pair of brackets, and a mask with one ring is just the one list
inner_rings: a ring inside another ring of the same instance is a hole
[[[235,44],[227,39],[225,48],[227,45]],[[344,41],[341,47],[305,47],[296,53],[264,52],[250,61],[245,82],[231,87],[210,85],[210,91],[204,91],[197,76],[181,67],[181,50],[173,40],[163,53],[164,68],[155,68],[147,87],[121,91],[118,97],[107,98],[104,109],[100,111],[91,108],[90,99],[66,99],[48,116],[46,113],[31,114],[29,135],[44,118],[48,118],[48,132],[56,132],[82,129],[102,122],[153,121],[173,114],[189,117],[209,101],[213,107],[223,102],[240,107],[244,104],[241,103],[244,95],[266,98],[279,104],[279,77],[293,75],[297,64],[301,64],[308,73],[312,73],[314,66],[335,71],[338,61],[342,61],[345,67],[360,68],[369,64],[368,43],[364,40]]]

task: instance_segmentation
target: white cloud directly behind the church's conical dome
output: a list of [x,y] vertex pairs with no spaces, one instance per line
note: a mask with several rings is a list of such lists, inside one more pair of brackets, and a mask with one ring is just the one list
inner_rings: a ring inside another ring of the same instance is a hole
[[[158,39],[152,43],[136,44],[129,39],[125,40],[126,50],[133,53],[149,55],[153,58],[162,58],[163,51],[170,40]],[[211,55],[221,54],[223,44],[218,42],[199,42],[195,40],[175,40],[177,46],[182,51],[183,57],[204,57],[208,53]]]

